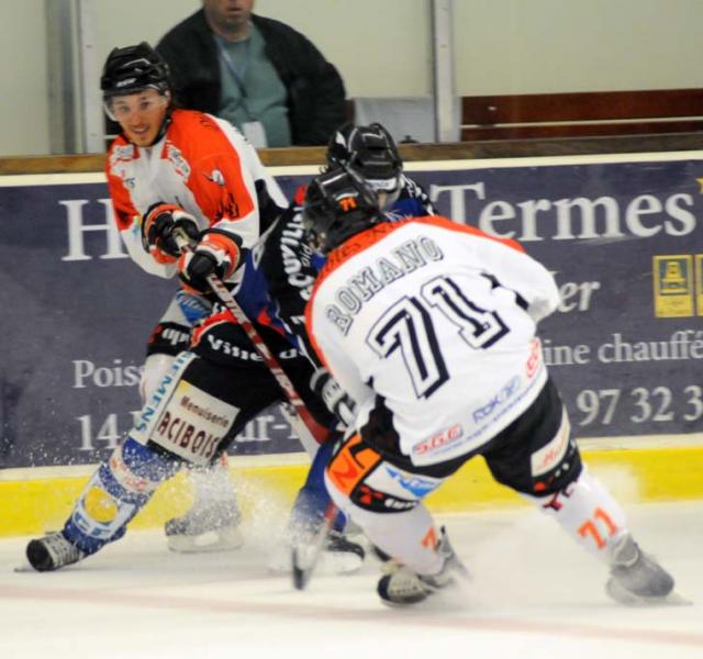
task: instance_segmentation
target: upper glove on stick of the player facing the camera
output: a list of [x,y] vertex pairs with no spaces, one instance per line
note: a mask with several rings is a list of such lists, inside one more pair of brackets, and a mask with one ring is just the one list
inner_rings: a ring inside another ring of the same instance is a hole
[[172,203],[155,203],[142,219],[142,245],[159,264],[174,264],[180,248],[174,237],[176,231],[188,241],[198,242],[200,230],[192,215]]

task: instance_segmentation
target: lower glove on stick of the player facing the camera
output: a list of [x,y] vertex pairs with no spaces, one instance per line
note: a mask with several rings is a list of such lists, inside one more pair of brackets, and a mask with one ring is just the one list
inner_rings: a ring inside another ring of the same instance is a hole
[[214,275],[226,280],[239,264],[239,244],[237,237],[217,230],[203,232],[203,237],[193,252],[180,257],[179,277],[189,288],[198,292],[210,291],[208,277]]

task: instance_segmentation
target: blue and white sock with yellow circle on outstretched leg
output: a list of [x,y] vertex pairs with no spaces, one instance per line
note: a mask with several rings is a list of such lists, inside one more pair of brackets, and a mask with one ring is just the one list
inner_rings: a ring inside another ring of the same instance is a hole
[[179,466],[127,438],[88,481],[64,527],[66,537],[86,555],[121,538],[127,522]]

